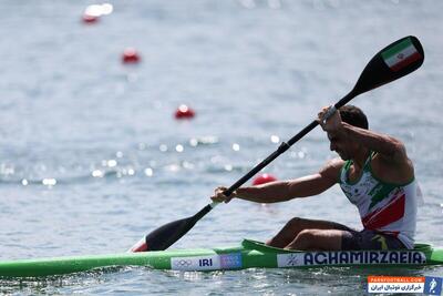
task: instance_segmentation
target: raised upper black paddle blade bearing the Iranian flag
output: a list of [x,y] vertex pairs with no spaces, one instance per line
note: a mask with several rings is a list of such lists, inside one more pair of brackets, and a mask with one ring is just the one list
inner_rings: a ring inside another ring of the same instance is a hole
[[364,68],[352,92],[373,90],[419,69],[424,61],[423,47],[413,35],[402,38],[382,49]]

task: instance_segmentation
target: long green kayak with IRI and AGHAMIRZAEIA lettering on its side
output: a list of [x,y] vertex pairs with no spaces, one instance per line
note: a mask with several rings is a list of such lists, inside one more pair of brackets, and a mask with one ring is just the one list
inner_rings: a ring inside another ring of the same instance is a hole
[[0,262],[1,277],[62,275],[107,266],[150,266],[173,271],[231,271],[251,267],[443,265],[443,248],[416,244],[402,251],[300,252],[245,239],[234,247],[155,251]]

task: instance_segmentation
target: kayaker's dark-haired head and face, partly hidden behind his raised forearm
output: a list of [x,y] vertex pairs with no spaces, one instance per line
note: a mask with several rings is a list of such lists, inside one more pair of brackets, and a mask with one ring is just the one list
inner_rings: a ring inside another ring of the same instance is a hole
[[[353,126],[368,130],[368,119],[361,109],[354,105],[344,105],[339,109],[341,120]],[[360,145],[351,142],[342,135],[328,133],[331,151],[336,151],[344,161],[352,159]]]

